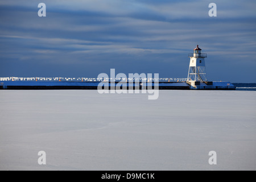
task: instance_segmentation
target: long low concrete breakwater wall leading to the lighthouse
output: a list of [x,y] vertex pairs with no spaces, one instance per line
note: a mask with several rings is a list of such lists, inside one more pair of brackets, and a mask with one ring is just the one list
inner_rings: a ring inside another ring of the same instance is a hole
[[[109,89],[129,89],[129,82],[100,82],[100,81],[1,81],[0,89],[44,90],[44,89],[98,89],[104,83]],[[117,85],[119,83],[119,85]],[[121,84],[121,86],[120,86]],[[236,86],[230,82],[133,82],[133,89],[159,89],[159,90],[234,90]]]

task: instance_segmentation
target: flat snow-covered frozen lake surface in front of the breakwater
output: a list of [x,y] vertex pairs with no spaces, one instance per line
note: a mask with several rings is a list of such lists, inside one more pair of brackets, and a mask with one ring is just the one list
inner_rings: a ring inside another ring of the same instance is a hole
[[256,169],[255,91],[159,92],[0,90],[0,169]]

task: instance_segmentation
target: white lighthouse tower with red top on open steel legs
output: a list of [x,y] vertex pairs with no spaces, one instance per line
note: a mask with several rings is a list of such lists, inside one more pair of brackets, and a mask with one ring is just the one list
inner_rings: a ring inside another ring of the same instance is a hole
[[190,57],[188,69],[188,82],[207,81],[204,58],[207,57],[206,53],[202,53],[202,49],[197,47],[194,53],[189,53]]

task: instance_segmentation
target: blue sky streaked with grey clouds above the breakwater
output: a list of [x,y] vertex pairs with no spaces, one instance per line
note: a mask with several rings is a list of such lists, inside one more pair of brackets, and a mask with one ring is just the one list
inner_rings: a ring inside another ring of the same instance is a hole
[[0,77],[184,78],[197,44],[208,80],[256,82],[256,1],[0,1]]

